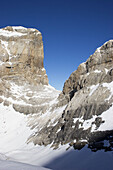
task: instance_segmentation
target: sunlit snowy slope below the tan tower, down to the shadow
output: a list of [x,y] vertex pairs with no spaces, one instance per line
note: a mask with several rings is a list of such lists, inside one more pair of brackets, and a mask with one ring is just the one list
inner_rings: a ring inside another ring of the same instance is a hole
[[[41,128],[54,126],[66,107],[58,106],[60,91],[50,85],[35,86],[27,82],[22,85],[21,81],[18,84],[1,80],[1,84],[3,82],[8,88],[0,97],[0,159],[44,166],[62,155],[67,146],[53,151],[51,145],[34,145],[34,138]],[[6,162],[6,165],[12,167],[13,163]],[[14,168],[16,166],[19,164],[14,164]]]

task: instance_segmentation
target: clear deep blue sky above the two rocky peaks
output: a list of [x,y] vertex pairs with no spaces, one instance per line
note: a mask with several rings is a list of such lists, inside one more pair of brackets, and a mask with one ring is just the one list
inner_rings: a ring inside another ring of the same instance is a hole
[[63,84],[97,47],[113,39],[113,0],[2,0],[0,27],[42,32],[49,83]]

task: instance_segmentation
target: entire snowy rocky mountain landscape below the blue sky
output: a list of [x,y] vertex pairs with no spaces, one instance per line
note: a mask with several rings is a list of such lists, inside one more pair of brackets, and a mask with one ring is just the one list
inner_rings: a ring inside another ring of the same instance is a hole
[[0,170],[112,169],[113,40],[62,92],[49,85],[43,59],[38,30],[0,29]]

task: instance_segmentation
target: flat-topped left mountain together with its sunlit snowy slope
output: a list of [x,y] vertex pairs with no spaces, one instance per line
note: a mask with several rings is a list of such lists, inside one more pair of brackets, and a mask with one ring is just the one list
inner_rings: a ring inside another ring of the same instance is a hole
[[43,158],[44,148],[31,141],[41,128],[59,119],[65,108],[57,107],[60,91],[48,84],[43,59],[38,30],[0,29],[0,159],[43,166],[53,157],[49,147]]

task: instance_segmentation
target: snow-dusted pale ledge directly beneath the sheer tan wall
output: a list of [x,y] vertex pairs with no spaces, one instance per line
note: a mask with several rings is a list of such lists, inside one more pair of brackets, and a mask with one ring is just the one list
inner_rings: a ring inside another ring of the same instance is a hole
[[[50,85],[44,85],[43,87],[38,87],[33,89],[32,86],[29,86],[28,84],[22,85],[17,85],[14,82],[10,83],[11,87],[11,94],[16,97],[11,98],[11,97],[5,97],[1,96],[2,99],[7,100],[11,103],[14,104],[20,104],[20,105],[29,105],[32,106],[32,104],[29,102],[30,99],[35,99],[35,100],[45,100],[47,99],[46,102],[42,102],[39,105],[53,105],[57,104],[58,100],[57,97],[60,93],[60,91],[56,90]],[[30,95],[30,96],[29,96]],[[38,106],[38,103],[35,104]]]

